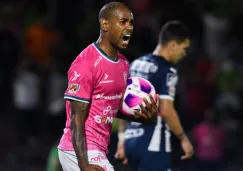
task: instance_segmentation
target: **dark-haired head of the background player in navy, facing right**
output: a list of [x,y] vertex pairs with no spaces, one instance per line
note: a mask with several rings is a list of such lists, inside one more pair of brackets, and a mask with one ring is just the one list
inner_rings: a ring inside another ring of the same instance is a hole
[[180,21],[167,22],[160,30],[159,45],[167,49],[171,62],[178,62],[186,55],[186,49],[190,45],[187,26]]

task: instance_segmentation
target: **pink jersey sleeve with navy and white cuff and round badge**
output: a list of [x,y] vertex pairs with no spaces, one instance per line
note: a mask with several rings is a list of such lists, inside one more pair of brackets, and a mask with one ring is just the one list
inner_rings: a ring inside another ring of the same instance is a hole
[[64,99],[89,103],[93,85],[93,65],[85,59],[77,60],[68,71],[68,88]]

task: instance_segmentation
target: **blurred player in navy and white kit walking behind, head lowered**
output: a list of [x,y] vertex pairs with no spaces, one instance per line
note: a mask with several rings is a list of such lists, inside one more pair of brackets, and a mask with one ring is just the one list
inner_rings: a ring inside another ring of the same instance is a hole
[[[144,125],[119,120],[116,158],[125,158],[133,171],[171,170],[170,130],[178,137],[188,159],[193,147],[185,134],[177,112],[174,97],[178,80],[175,64],[186,55],[190,45],[188,29],[179,21],[166,23],[160,31],[159,42],[151,54],[136,59],[130,67],[131,76],[149,80],[159,94],[160,112],[157,124]],[[124,133],[125,131],[125,133]]]

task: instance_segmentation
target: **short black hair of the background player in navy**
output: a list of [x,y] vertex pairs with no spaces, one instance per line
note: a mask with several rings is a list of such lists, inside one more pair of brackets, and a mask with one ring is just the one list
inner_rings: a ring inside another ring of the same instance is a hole
[[189,38],[189,30],[181,21],[168,21],[159,33],[159,43],[162,45],[167,45],[172,40],[182,43],[187,38]]

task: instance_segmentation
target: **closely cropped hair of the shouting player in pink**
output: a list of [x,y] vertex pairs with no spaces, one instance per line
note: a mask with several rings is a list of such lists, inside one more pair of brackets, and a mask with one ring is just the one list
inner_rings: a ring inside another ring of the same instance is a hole
[[124,6],[127,7],[125,4],[121,2],[110,2],[106,5],[104,5],[100,12],[99,12],[99,21],[104,18],[104,19],[109,19],[110,15],[112,12],[118,7],[118,6]]

